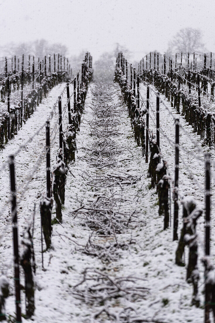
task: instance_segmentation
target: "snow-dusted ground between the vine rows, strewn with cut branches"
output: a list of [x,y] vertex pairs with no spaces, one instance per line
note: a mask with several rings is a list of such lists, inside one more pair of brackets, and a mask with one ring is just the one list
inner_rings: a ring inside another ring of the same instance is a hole
[[[58,85],[50,91],[48,98],[27,120],[15,139],[6,145],[5,150],[0,154],[1,164],[5,163],[8,154],[23,142],[22,138],[27,140],[43,124],[63,87],[64,85]],[[108,89],[109,96],[105,87]],[[101,94],[98,94],[100,92]],[[141,95],[143,99],[146,98],[146,89],[143,85],[141,85]],[[105,98],[104,101],[103,98]],[[65,100],[64,97],[63,105]],[[155,100],[155,95],[151,93],[150,115],[153,120],[155,117],[151,109],[154,111],[156,109]],[[170,104],[167,103],[167,105],[175,114]],[[104,110],[103,115],[98,113],[101,109]],[[109,110],[111,113],[108,115]],[[199,141],[199,136],[192,132],[191,126],[188,126],[180,115],[178,117],[191,138]],[[51,131],[57,118],[56,109],[56,114],[51,121]],[[67,115],[64,119],[64,129],[66,120]],[[160,123],[167,136],[174,140],[174,122],[162,104]],[[155,129],[151,118],[150,129]],[[52,138],[53,136],[51,141]],[[17,187],[34,167],[44,143],[43,129],[15,158]],[[202,158],[202,161],[195,160],[181,151],[181,156],[187,167],[191,169],[194,179],[191,179],[191,174],[180,161],[180,200],[184,195],[193,196],[198,205],[204,208],[203,155],[196,152],[189,138],[182,132],[180,145]],[[174,147],[164,139],[162,134],[160,147],[164,158],[168,161],[169,174],[174,177]],[[57,148],[58,135],[51,146],[52,166]],[[26,222],[32,219],[34,203],[36,203],[34,227],[37,265],[36,309],[32,320],[23,319],[23,321],[202,322],[204,310],[190,306],[192,287],[185,281],[186,268],[174,264],[177,242],[172,242],[172,226],[163,231],[163,218],[158,216],[156,190],[149,190],[151,180],[147,178],[148,164],[145,163],[141,150],[134,141],[127,108],[122,103],[117,85],[103,86],[100,90],[98,84],[90,86],[80,132],[77,133],[77,149],[76,161],[71,165],[67,175],[63,223],[54,224],[53,248],[44,252],[45,271],[41,267],[39,214],[39,201],[45,191],[45,160],[34,173],[21,201],[19,198],[23,189],[17,191],[19,234],[22,234]],[[207,147],[201,147],[201,149],[209,150]],[[213,152],[212,154],[214,155]],[[214,156],[212,158],[214,161]],[[2,210],[5,201],[9,199],[8,169],[0,173],[0,187]],[[211,187],[214,192],[213,181]],[[214,202],[213,197],[212,200]],[[211,214],[214,210],[213,205]],[[13,249],[9,207],[8,204],[4,213],[0,213],[2,219],[0,254],[1,270],[9,277],[11,291],[13,291]],[[172,213],[173,208],[171,208]],[[181,229],[181,215],[180,207],[178,233]],[[197,225],[200,256],[203,255],[204,250],[203,222],[202,217]],[[212,217],[211,227],[213,226]],[[91,245],[89,243],[87,245],[90,236]],[[214,241],[212,230],[212,255],[214,255]],[[185,253],[187,262],[187,250]],[[215,260],[214,257],[212,260]],[[204,269],[200,262],[199,269],[202,306]],[[92,279],[83,281],[83,272],[86,273],[85,278]],[[124,277],[125,280],[120,277]],[[21,283],[24,283],[22,269]],[[107,291],[108,286],[112,287],[109,291]],[[14,312],[14,302],[14,296],[6,300],[8,315]],[[22,312],[24,311],[22,293]]]

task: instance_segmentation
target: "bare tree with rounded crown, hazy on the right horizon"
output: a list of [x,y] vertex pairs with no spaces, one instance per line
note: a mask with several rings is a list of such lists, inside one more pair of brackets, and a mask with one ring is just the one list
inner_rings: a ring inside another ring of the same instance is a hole
[[[204,44],[202,43],[201,38],[202,33],[199,29],[183,28],[169,42],[167,53],[202,53],[204,51]],[[186,54],[184,55],[184,57],[185,59],[187,59]]]

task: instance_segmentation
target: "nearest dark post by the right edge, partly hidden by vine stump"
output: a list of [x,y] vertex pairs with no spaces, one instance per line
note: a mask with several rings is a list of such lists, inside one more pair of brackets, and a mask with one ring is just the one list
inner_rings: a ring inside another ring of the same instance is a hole
[[[205,154],[206,159],[206,190],[205,190],[205,255],[210,255],[210,154]],[[210,287],[205,282],[205,323],[210,323]]]

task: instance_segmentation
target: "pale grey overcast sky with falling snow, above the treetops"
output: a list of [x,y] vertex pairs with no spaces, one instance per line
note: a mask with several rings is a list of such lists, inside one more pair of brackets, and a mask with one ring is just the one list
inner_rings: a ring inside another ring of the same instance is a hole
[[140,59],[193,27],[215,52],[214,14],[214,0],[0,0],[0,43],[44,38],[98,58],[118,42]]

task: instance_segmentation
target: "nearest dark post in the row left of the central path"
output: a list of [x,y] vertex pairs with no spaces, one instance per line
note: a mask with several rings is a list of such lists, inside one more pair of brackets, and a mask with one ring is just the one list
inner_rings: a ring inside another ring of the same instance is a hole
[[13,244],[14,244],[14,281],[15,281],[15,305],[16,305],[16,321],[22,322],[21,317],[21,300],[20,300],[20,282],[19,282],[19,246],[18,246],[18,226],[17,226],[17,210],[16,210],[16,190],[15,190],[15,170],[14,156],[9,156],[10,168],[10,187],[11,187],[11,204],[12,204],[12,224],[13,224]]

